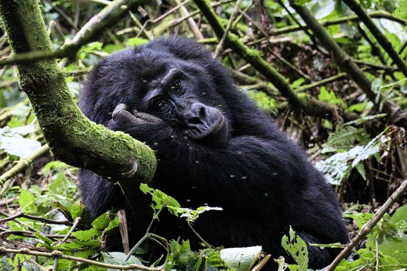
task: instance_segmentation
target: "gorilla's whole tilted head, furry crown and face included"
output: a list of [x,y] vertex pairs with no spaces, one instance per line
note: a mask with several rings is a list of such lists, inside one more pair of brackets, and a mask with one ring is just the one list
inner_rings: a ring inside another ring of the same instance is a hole
[[[159,117],[190,140],[226,139],[228,109],[209,72],[199,61],[165,48],[158,51],[148,44],[127,49],[94,68],[85,83],[81,108],[90,119],[105,124],[114,107],[125,103],[130,112]],[[89,108],[94,100],[95,107]]]

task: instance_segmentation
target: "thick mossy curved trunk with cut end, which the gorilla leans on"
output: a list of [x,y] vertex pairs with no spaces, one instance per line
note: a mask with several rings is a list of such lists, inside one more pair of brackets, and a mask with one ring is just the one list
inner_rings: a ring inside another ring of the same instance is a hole
[[[2,0],[0,15],[16,56],[51,51],[36,0]],[[112,132],[86,118],[68,90],[64,70],[55,60],[18,65],[18,71],[21,88],[58,159],[92,170],[112,182],[119,181],[125,195],[138,189],[138,182],[152,178],[157,163],[153,150],[127,134]]]

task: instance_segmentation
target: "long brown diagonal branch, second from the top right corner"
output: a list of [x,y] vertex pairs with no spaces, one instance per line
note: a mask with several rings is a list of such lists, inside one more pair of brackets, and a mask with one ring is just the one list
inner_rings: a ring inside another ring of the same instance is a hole
[[[315,19],[308,8],[303,5],[296,5],[294,0],[290,0],[290,5],[302,17],[307,24],[307,27],[312,30],[321,45],[331,52],[335,64],[356,82],[370,101],[375,102],[377,94],[372,91],[370,80],[358,65],[356,65],[352,58],[329,36],[328,32]],[[390,123],[397,123],[398,125],[407,128],[406,113],[397,104],[393,103],[391,100],[384,101],[383,111],[388,114],[388,121]]]

